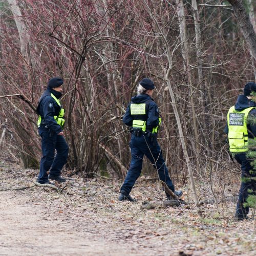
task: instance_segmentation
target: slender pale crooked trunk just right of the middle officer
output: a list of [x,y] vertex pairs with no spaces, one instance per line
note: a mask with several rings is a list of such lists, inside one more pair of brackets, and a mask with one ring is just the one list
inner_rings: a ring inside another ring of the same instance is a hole
[[199,201],[198,201],[198,197],[197,197],[197,190],[196,190],[195,180],[194,180],[193,171],[192,171],[192,167],[191,167],[191,162],[190,162],[189,156],[187,154],[186,144],[185,144],[185,140],[184,140],[184,136],[183,136],[180,117],[179,117],[179,113],[178,113],[178,109],[177,109],[177,105],[176,105],[176,101],[175,101],[175,96],[174,96],[173,88],[170,84],[170,79],[169,79],[170,71],[173,68],[172,54],[170,53],[170,49],[169,49],[169,45],[168,45],[168,41],[166,39],[166,36],[164,35],[163,31],[161,30],[160,25],[157,22],[155,16],[153,15],[150,7],[147,5],[145,0],[143,0],[143,3],[145,5],[148,13],[150,13],[152,19],[154,20],[154,23],[157,27],[157,30],[158,30],[159,34],[161,35],[161,37],[164,41],[164,47],[165,47],[165,51],[166,51],[166,54],[167,54],[168,66],[169,66],[168,70],[165,74],[164,81],[167,83],[169,93],[170,93],[170,97],[172,99],[171,103],[172,103],[172,106],[173,106],[173,109],[174,109],[174,114],[175,114],[175,118],[176,118],[177,125],[178,125],[178,130],[179,130],[179,135],[180,135],[183,154],[185,156],[186,163],[187,163],[187,169],[188,169],[188,173],[189,173],[189,179],[190,179],[191,189],[192,189],[192,193],[193,193],[193,197],[194,197],[194,202],[196,204],[198,214],[201,215],[202,211],[201,211]]

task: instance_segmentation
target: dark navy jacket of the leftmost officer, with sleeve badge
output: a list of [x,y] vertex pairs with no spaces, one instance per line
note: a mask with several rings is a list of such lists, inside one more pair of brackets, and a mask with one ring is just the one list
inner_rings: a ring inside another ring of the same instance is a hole
[[55,119],[54,116],[59,115],[60,106],[57,104],[55,99],[51,96],[51,93],[59,99],[61,97],[61,93],[57,92],[52,89],[47,89],[39,99],[39,103],[36,109],[38,115],[41,116],[41,125],[40,129],[44,129],[47,125],[51,129],[51,131],[55,132],[56,134],[62,132],[61,127]]

